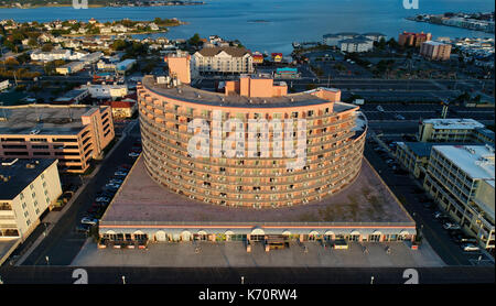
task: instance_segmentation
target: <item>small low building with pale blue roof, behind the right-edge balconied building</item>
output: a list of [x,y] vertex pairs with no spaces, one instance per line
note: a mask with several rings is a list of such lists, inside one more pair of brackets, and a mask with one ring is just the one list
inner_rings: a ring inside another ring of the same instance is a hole
[[474,119],[427,119],[418,140],[425,142],[483,142],[494,145],[494,132]]

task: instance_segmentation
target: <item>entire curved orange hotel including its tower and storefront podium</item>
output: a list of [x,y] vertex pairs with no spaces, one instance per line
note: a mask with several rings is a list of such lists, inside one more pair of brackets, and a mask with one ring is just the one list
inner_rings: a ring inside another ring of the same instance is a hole
[[365,117],[339,90],[288,94],[255,75],[200,90],[190,55],[166,61],[169,77],[138,86],[143,152],[99,221],[99,247],[414,238],[363,157]]

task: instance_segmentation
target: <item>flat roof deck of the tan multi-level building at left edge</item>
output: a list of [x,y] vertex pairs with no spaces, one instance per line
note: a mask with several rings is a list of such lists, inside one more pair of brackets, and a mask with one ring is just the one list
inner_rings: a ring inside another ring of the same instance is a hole
[[80,117],[96,107],[26,105],[0,107],[0,134],[77,134],[85,127]]

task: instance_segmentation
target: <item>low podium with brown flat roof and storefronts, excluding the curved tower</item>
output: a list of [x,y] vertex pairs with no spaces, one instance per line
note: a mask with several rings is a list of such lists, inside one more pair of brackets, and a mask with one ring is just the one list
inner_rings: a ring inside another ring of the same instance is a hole
[[101,243],[132,241],[413,240],[416,223],[368,164],[345,189],[308,205],[252,209],[205,204],[157,184],[142,156],[99,222]]

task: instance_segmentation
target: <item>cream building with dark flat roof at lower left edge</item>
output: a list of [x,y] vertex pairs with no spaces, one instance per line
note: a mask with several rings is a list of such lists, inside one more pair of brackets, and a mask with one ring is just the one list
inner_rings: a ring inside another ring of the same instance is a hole
[[0,264],[61,194],[57,160],[0,159]]

